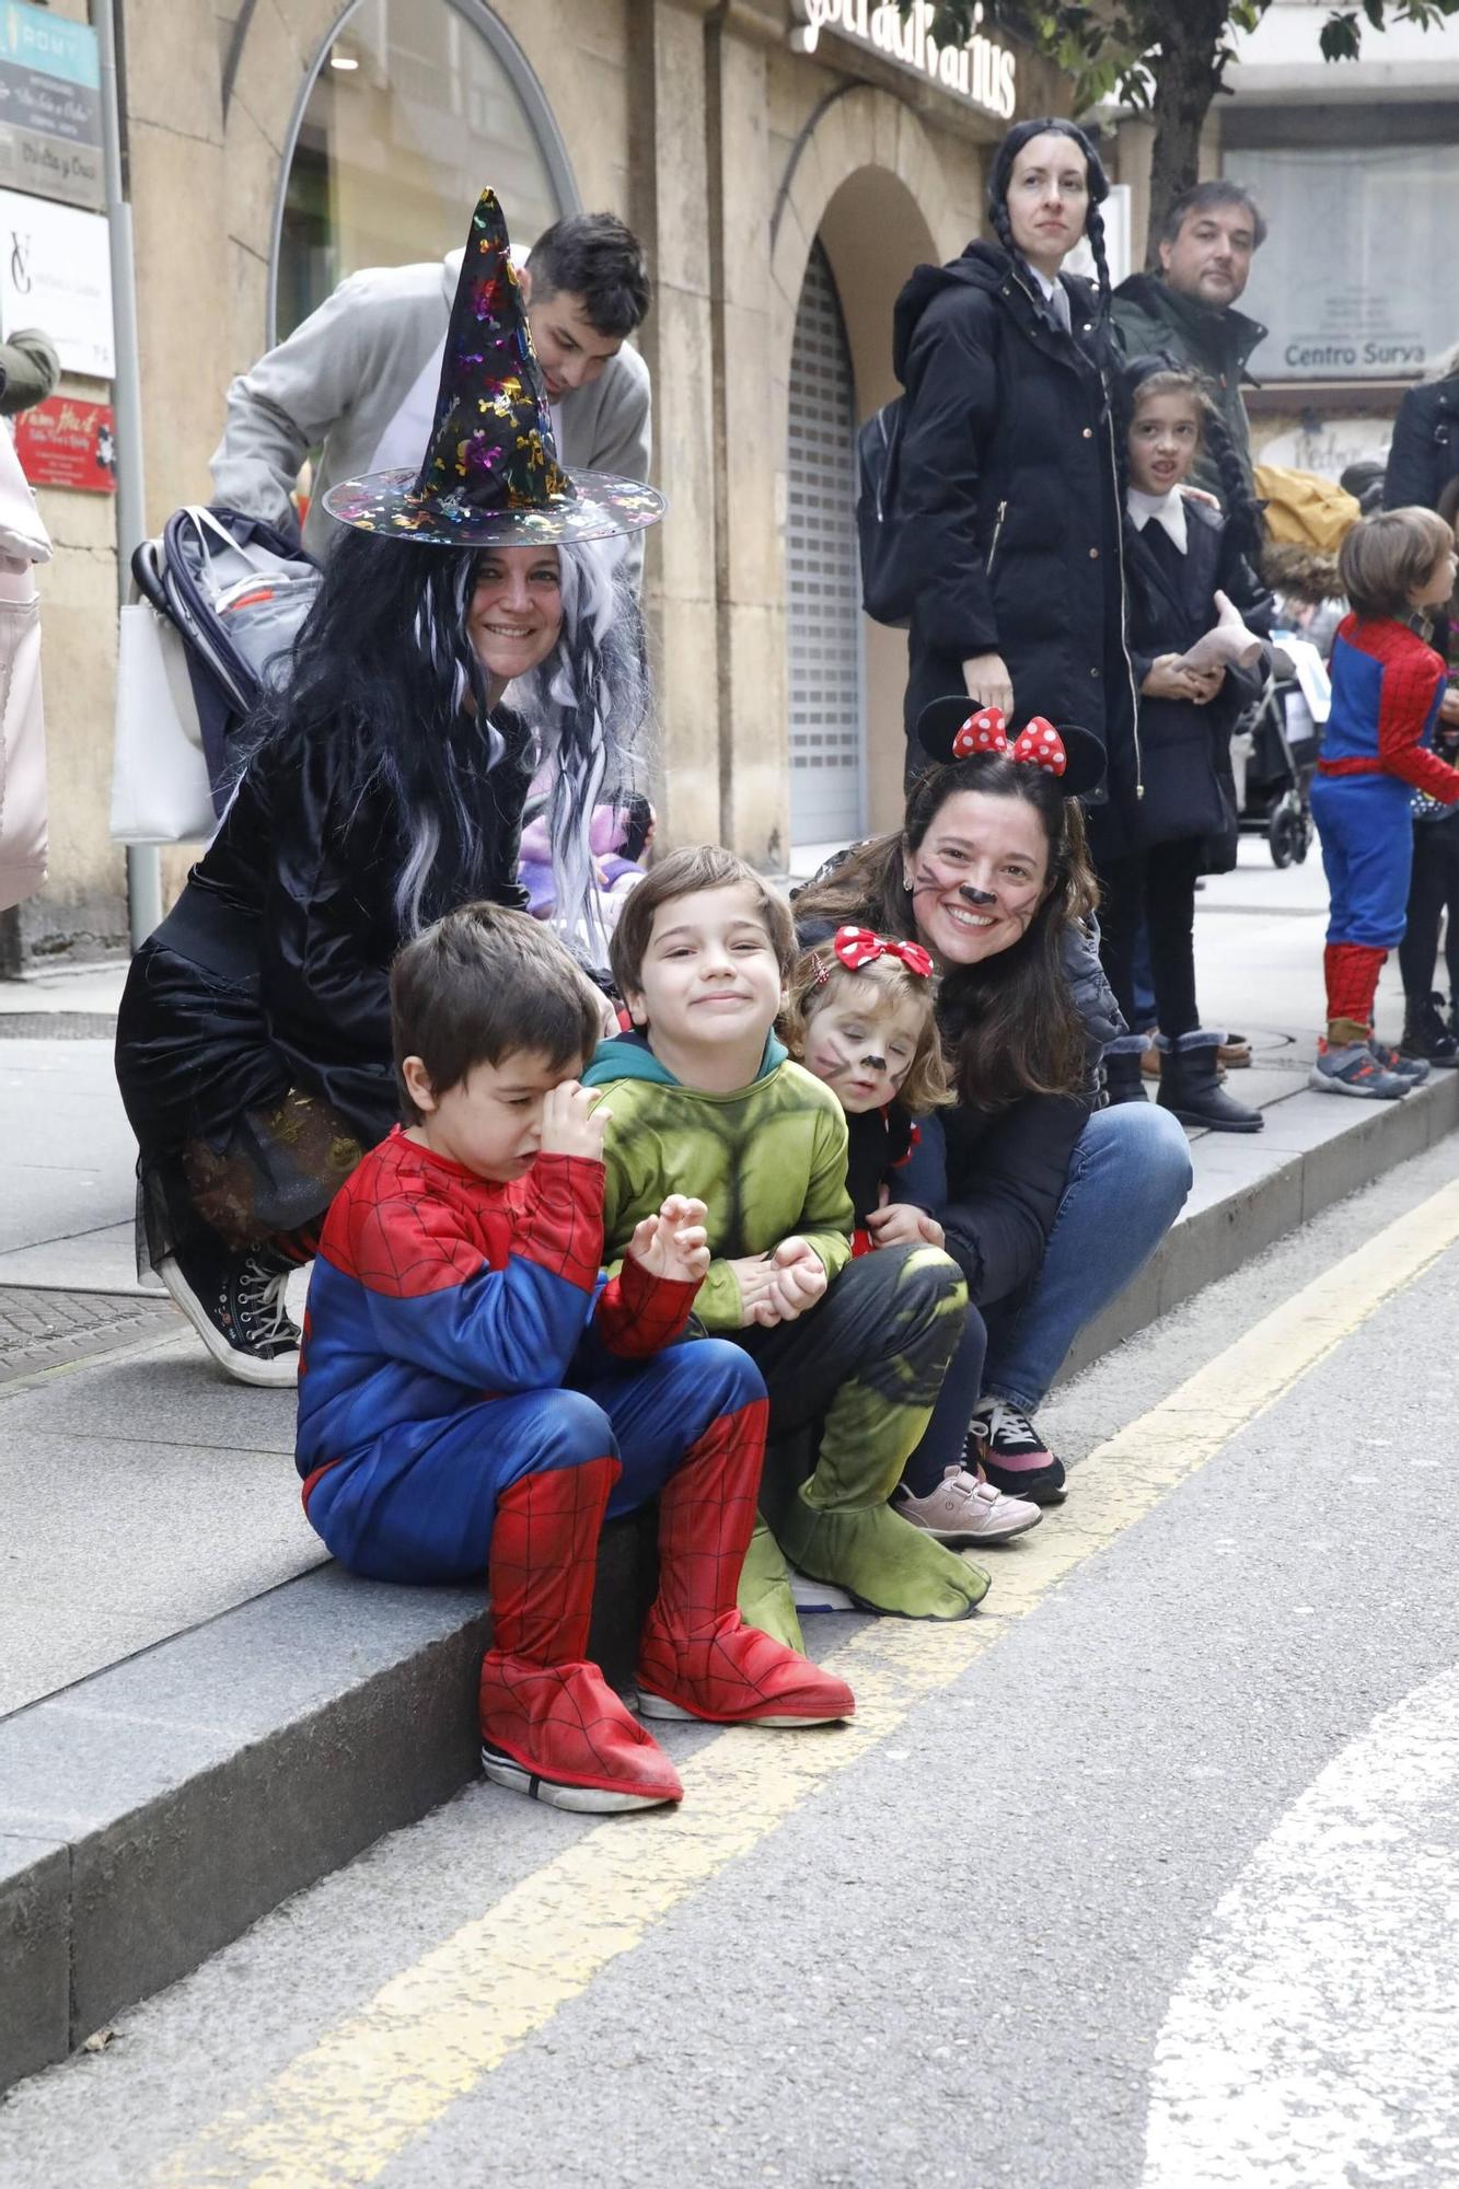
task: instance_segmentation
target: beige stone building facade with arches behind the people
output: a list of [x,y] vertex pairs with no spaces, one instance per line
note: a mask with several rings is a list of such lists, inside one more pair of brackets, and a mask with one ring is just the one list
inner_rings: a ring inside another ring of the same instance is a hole
[[[85,15],[85,0],[64,13]],[[655,306],[648,547],[666,841],[767,869],[898,810],[905,641],[857,606],[852,436],[892,302],[981,228],[1054,72],[876,0],[120,0],[147,523],[208,497],[223,390],[359,265],[438,256],[491,182],[530,241],[616,208]],[[353,103],[351,103],[353,101]],[[85,392],[77,385],[77,392]],[[107,836],[110,508],[44,490],[53,873],[11,961],[127,933]],[[188,854],[164,854],[175,887]]]

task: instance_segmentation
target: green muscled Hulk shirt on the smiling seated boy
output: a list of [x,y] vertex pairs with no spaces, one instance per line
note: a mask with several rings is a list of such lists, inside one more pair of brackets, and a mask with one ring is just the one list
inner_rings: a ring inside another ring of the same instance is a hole
[[828,1086],[793,1064],[771,1035],[760,1070],[734,1094],[686,1088],[642,1033],[602,1042],[583,1086],[611,1088],[602,1145],[602,1254],[622,1261],[642,1217],[670,1193],[705,1204],[710,1274],[694,1316],[705,1331],[738,1331],[740,1287],[730,1261],[806,1239],[832,1278],[850,1261],[846,1116]]

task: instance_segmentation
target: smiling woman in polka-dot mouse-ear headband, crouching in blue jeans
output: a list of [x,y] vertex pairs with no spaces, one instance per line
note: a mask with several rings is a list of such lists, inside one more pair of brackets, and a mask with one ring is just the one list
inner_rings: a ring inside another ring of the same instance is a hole
[[903,1200],[870,1219],[878,1246],[898,1246],[938,1217],[968,1281],[964,1344],[986,1346],[973,1421],[949,1373],[914,1453],[907,1489],[924,1515],[898,1504],[938,1532],[979,1460],[1008,1495],[1065,1495],[1034,1414],[1078,1333],[1174,1224],[1192,1165],[1170,1112],[1095,1108],[1100,1053],[1124,1027],[1089,926],[1080,799],[1104,773],[1098,740],[1043,720],[1012,736],[964,696],[935,700],[916,731],[938,764],[911,786],[903,830],[822,869],[795,919],[806,943],[843,922],[918,941],[942,976],[955,1101],[940,1134],[924,1125]]

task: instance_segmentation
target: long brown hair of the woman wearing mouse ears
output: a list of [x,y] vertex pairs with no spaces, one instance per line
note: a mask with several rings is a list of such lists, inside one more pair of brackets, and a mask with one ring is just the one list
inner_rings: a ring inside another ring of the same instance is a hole
[[1078,799],[1060,797],[1056,777],[1043,768],[1001,753],[929,768],[907,795],[903,834],[876,836],[848,852],[830,873],[797,893],[795,917],[802,924],[863,919],[883,935],[916,939],[907,854],[922,847],[960,790],[1032,806],[1049,847],[1049,876],[1027,933],[1010,950],[981,965],[942,970],[938,1020],[957,1101],[995,1112],[1025,1094],[1078,1094],[1089,1066],[1084,1022],[1062,968],[1062,939],[1093,911],[1098,889]]

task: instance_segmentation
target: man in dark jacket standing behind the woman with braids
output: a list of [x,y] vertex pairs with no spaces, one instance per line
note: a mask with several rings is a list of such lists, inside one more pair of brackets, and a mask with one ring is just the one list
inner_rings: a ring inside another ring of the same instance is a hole
[[[1242,381],[1247,359],[1266,328],[1236,300],[1251,276],[1251,260],[1266,241],[1266,221],[1238,182],[1198,182],[1165,215],[1159,239],[1161,271],[1130,274],[1115,289],[1115,331],[1128,357],[1163,357],[1205,377],[1227,438],[1247,473],[1251,493],[1251,425]],[[1222,501],[1220,473],[1203,458],[1192,486]]]

